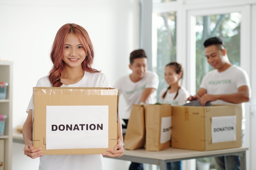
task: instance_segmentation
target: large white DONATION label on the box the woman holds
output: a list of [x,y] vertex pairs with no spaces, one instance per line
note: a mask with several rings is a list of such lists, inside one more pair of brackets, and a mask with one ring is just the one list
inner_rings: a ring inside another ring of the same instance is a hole
[[108,106],[46,106],[46,150],[108,148]]

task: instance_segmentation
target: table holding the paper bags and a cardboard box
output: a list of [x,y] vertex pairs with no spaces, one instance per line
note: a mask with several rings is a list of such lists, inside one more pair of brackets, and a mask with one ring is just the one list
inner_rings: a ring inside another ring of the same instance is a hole
[[246,150],[248,150],[248,148],[245,147],[211,151],[168,148],[159,152],[146,151],[145,149],[137,149],[124,150],[124,155],[122,157],[116,157],[113,159],[120,159],[137,163],[155,164],[160,166],[160,170],[166,170],[167,162],[181,161],[185,159],[196,159],[202,157],[239,155],[241,160],[241,170],[246,170]]

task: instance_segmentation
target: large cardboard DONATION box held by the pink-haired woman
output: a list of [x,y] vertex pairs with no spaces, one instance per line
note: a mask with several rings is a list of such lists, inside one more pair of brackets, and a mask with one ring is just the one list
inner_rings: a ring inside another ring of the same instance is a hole
[[115,147],[118,89],[33,90],[33,144],[44,155],[102,154]]

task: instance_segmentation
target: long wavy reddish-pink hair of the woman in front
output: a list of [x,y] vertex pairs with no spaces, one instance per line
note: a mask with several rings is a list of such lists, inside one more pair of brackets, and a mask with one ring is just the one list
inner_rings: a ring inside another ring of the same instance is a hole
[[86,57],[85,60],[82,62],[83,70],[90,72],[90,73],[99,73],[96,69],[92,68],[92,62],[94,58],[94,49],[92,46],[92,42],[88,35],[88,32],[82,27],[77,24],[65,24],[61,26],[61,28],[56,33],[52,51],[50,54],[53,66],[51,71],[49,72],[49,80],[54,87],[60,87],[61,83],[61,71],[64,70],[65,62],[63,62],[63,51],[64,51],[64,44],[65,38],[68,33],[74,33],[77,35],[81,41],[83,49],[85,50]]

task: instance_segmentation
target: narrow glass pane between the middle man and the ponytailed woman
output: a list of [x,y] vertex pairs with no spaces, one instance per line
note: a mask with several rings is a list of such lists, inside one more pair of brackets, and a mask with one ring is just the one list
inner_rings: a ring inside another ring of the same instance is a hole
[[167,87],[164,80],[164,68],[169,62],[176,61],[176,12],[153,14],[152,63],[153,71],[159,76],[157,99],[162,89]]

